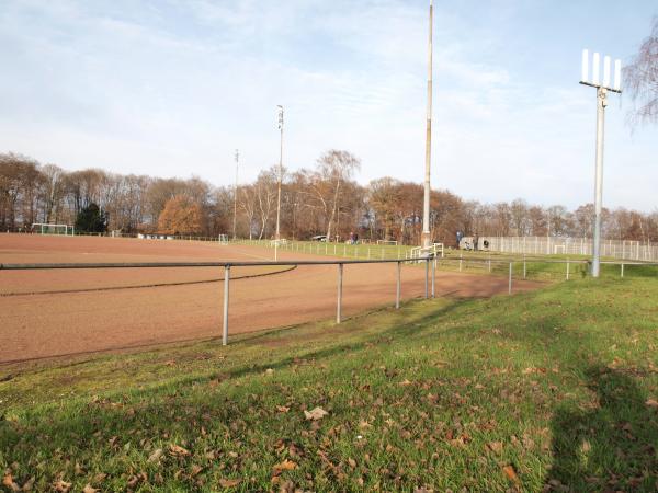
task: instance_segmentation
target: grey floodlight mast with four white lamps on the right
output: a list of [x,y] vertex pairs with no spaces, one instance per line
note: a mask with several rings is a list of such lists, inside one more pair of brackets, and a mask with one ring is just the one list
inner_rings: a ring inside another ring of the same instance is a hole
[[603,202],[603,140],[605,129],[605,106],[608,106],[608,91],[620,93],[621,89],[621,60],[614,61],[614,83],[610,83],[610,57],[603,59],[603,81],[600,79],[600,56],[594,53],[592,59],[592,79],[589,80],[589,51],[582,50],[582,77],[580,83],[597,88],[597,172],[594,183],[594,234],[592,248],[592,277],[599,277],[601,271],[601,209]]

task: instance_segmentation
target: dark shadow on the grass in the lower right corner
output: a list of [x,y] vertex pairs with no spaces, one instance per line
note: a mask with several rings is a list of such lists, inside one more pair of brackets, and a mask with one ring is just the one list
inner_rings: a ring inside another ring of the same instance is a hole
[[593,366],[590,409],[553,419],[553,467],[544,491],[658,491],[658,415],[634,377]]

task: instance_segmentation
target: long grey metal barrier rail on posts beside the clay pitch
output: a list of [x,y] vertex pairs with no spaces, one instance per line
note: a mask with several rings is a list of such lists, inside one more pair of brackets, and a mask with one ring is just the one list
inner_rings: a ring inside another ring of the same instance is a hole
[[[589,264],[589,260],[509,260],[509,259],[464,259],[464,257],[444,257],[436,259],[432,256],[421,259],[388,259],[388,260],[327,260],[327,261],[253,261],[253,262],[123,262],[123,263],[61,263],[61,264],[0,264],[0,271],[35,271],[35,270],[67,270],[67,268],[154,268],[154,267],[224,267],[224,306],[223,306],[223,331],[222,343],[228,344],[228,309],[229,309],[229,293],[230,293],[230,270],[231,267],[250,267],[250,266],[285,266],[285,265],[337,265],[338,282],[337,282],[337,308],[336,323],[342,321],[342,278],[344,265],[355,264],[397,264],[396,276],[396,297],[395,308],[400,308],[401,296],[401,265],[405,263],[424,262],[424,298],[435,297],[435,276],[436,263],[458,262],[460,272],[462,271],[463,262],[487,264],[491,272],[491,264],[509,264],[508,271],[508,295],[512,294],[512,274],[513,265],[523,263],[523,278],[526,277],[526,263],[547,263],[547,264],[566,264],[566,279],[569,279],[569,270],[571,264]],[[601,262],[602,264],[620,265],[621,277],[624,277],[625,265],[643,265],[658,266],[655,262]],[[430,276],[431,268],[431,276]],[[430,289],[431,279],[431,289]]]

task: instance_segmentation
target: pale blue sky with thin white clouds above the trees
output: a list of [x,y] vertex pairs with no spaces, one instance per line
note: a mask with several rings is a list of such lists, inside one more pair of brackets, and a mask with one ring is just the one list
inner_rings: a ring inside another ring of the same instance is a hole
[[[0,0],[0,151],[66,169],[241,181],[330,148],[361,183],[422,181],[427,1]],[[591,202],[595,94],[582,48],[628,60],[655,0],[435,2],[432,186]],[[606,112],[604,203],[658,200],[658,126]]]

